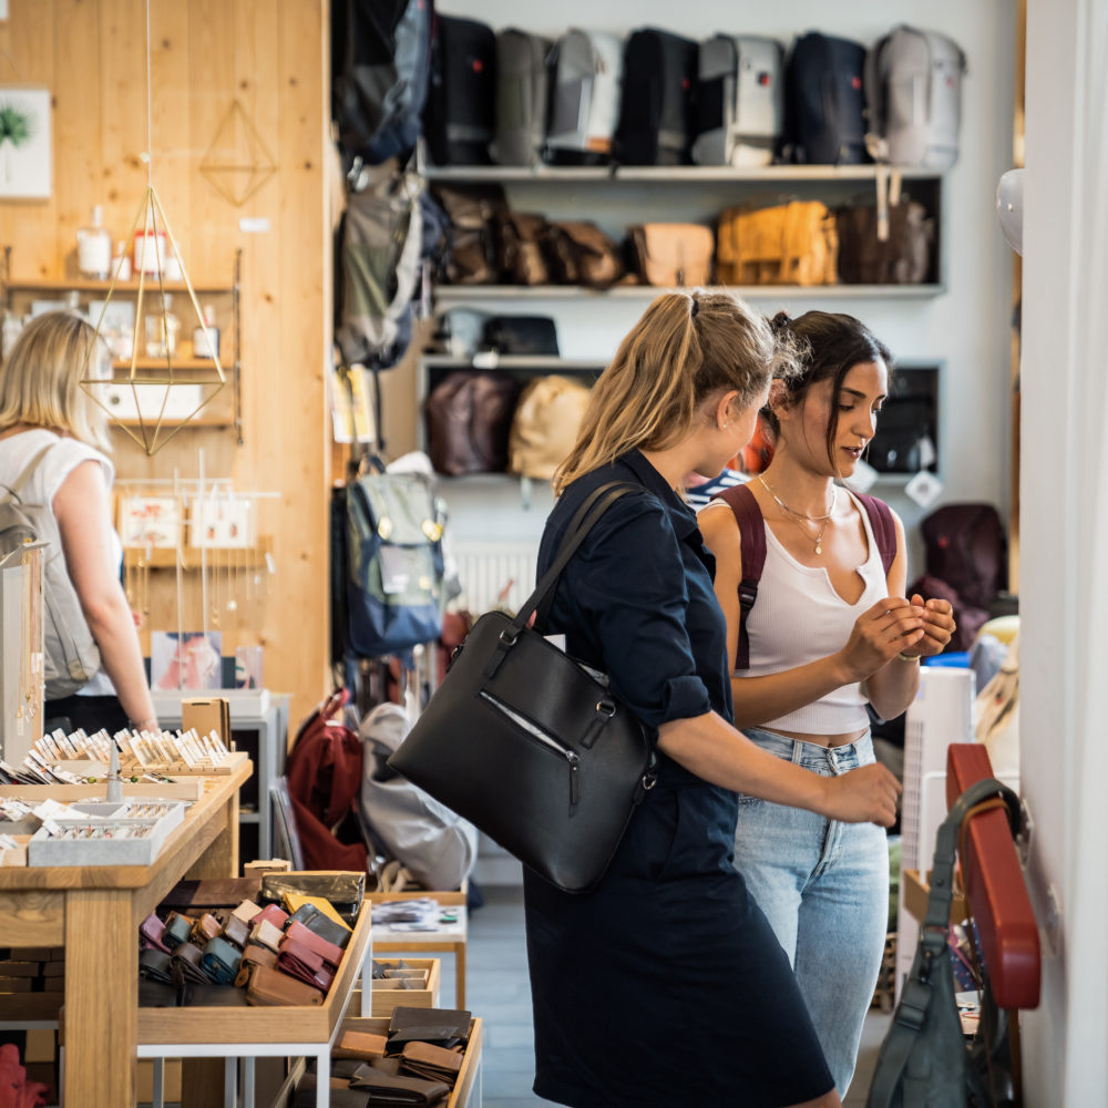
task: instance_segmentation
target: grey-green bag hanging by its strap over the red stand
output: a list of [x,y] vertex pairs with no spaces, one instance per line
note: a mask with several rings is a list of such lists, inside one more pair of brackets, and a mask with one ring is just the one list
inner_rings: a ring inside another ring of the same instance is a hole
[[984,978],[982,1020],[973,1043],[967,1045],[954,999],[948,946],[955,849],[974,815],[997,807],[1006,809],[1015,834],[1019,798],[995,778],[970,786],[938,828],[927,914],[900,1004],[881,1044],[866,1108],[986,1108],[1012,1104],[996,1088],[1008,1076],[1003,1057],[1007,1044],[997,1034],[994,1017],[998,1013],[988,979]]

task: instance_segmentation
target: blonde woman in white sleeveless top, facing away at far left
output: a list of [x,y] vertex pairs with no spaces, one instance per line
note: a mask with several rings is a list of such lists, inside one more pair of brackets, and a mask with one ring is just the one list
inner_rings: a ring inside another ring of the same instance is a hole
[[[115,470],[106,413],[82,391],[107,351],[68,311],[32,319],[0,367],[0,484],[48,509],[58,542],[43,552],[47,731],[68,719],[92,733],[155,730],[134,617],[120,584],[112,525]],[[88,369],[86,369],[88,367]],[[58,721],[57,724],[53,721]]]

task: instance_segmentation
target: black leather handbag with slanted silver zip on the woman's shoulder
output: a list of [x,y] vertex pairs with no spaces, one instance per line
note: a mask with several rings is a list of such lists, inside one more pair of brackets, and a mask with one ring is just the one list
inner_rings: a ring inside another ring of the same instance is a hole
[[642,490],[612,482],[585,501],[514,619],[500,611],[478,619],[388,762],[566,892],[599,882],[655,782],[638,719],[543,637],[562,571],[627,494]]

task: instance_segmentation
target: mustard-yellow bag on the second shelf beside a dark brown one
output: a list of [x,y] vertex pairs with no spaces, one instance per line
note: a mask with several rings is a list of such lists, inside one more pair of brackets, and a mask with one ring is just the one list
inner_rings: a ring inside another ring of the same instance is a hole
[[819,201],[720,214],[716,261],[721,284],[834,285],[838,260],[834,216]]

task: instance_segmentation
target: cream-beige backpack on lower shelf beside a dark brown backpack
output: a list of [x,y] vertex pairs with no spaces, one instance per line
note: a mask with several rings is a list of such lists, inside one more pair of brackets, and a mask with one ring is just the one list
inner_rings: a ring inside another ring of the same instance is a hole
[[548,481],[577,441],[588,388],[558,373],[536,377],[515,406],[509,438],[509,469]]

